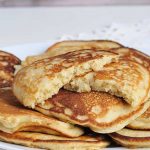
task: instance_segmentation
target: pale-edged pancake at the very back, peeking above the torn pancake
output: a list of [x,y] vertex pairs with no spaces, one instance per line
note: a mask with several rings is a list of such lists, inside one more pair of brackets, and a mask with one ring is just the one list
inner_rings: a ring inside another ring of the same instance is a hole
[[70,40],[58,42],[50,46],[47,49],[46,53],[52,57],[77,50],[84,50],[84,49],[109,50],[120,47],[123,47],[123,45],[110,40],[90,40],[90,41]]

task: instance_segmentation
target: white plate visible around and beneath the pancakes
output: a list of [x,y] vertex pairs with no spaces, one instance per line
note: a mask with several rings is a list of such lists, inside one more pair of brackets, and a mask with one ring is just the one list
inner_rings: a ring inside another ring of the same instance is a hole
[[[24,44],[24,45],[15,45],[15,46],[9,46],[9,47],[2,47],[1,50],[10,52],[17,57],[19,57],[21,60],[25,59],[25,57],[29,55],[36,55],[44,52],[50,45],[56,43],[56,40],[51,40],[50,42],[45,43],[33,43],[33,44]],[[150,51],[143,51],[147,54],[150,53]],[[34,148],[28,148],[25,146],[15,145],[15,144],[9,144],[5,142],[0,142],[0,149],[2,150],[39,150]],[[123,149],[123,148],[108,148],[108,149]]]

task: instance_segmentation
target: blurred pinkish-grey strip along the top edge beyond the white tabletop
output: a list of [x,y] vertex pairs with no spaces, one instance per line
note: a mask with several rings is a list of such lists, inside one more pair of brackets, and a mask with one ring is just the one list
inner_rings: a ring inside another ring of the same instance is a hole
[[0,0],[0,7],[146,5],[150,0]]

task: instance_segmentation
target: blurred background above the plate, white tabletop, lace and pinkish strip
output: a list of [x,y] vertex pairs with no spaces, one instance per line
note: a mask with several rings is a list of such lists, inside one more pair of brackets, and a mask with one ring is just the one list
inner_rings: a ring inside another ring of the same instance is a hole
[[149,51],[149,37],[150,0],[0,0],[1,49],[53,40],[108,39]]

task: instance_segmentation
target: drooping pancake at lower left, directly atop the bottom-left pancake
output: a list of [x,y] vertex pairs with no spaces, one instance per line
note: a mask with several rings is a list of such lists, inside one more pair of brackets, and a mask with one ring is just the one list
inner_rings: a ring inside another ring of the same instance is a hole
[[79,127],[23,107],[11,90],[0,90],[0,130],[7,133],[35,131],[68,137],[83,134]]

